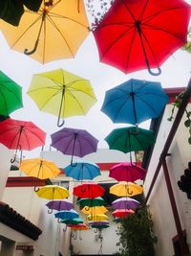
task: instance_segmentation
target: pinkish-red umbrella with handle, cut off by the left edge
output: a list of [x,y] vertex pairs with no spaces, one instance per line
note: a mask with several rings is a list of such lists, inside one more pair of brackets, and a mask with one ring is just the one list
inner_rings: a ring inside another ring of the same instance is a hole
[[45,145],[46,133],[35,126],[32,122],[6,119],[0,123],[0,143],[8,149],[32,151],[33,149]]

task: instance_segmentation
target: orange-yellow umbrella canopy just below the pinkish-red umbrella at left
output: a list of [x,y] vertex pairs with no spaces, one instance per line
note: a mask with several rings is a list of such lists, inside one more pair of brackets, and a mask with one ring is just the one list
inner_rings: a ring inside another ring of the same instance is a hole
[[52,161],[45,160],[43,158],[22,160],[19,169],[26,175],[40,179],[56,177],[61,172]]

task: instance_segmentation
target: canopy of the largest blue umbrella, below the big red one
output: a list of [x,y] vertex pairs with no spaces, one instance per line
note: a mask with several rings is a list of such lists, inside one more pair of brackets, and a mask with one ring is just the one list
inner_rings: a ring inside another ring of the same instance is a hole
[[108,90],[101,111],[114,123],[139,123],[159,117],[168,97],[158,81],[129,80]]

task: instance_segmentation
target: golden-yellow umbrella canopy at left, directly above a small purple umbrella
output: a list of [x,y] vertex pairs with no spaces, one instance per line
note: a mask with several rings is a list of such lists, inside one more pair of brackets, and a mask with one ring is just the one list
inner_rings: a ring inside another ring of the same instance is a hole
[[46,198],[50,200],[68,198],[69,191],[57,185],[47,185],[35,191],[39,198]]

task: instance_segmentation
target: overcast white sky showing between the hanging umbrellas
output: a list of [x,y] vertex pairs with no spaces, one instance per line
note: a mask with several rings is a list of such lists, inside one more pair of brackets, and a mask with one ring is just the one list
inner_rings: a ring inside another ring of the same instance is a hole
[[[191,3],[191,1],[187,2]],[[182,50],[177,51],[164,62],[161,66],[162,73],[158,77],[149,75],[146,70],[125,75],[116,68],[99,62],[96,42],[92,34],[85,39],[75,58],[53,61],[44,65],[24,54],[10,50],[5,38],[0,34],[0,59],[0,70],[23,87],[24,107],[12,112],[11,118],[32,121],[45,130],[47,132],[45,151],[48,151],[50,147],[50,135],[60,128],[56,127],[57,117],[40,111],[26,94],[33,74],[62,68],[91,81],[96,93],[96,105],[86,116],[67,118],[64,127],[87,129],[99,140],[98,148],[108,148],[104,138],[112,129],[125,127],[124,124],[113,124],[109,117],[100,111],[106,90],[132,78],[160,81],[163,88],[184,87],[187,86],[191,77],[191,54]],[[140,124],[139,127],[148,128],[148,122]],[[24,155],[34,157],[38,156],[39,152],[40,149],[31,152],[25,151]]]

